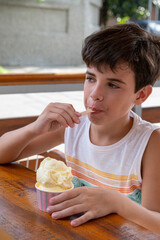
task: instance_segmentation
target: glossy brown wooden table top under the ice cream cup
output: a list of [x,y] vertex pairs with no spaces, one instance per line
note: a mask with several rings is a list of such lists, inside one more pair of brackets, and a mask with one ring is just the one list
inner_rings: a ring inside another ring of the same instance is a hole
[[[160,236],[112,214],[72,227],[38,209],[35,172],[17,163],[0,166],[0,226],[8,238],[25,240],[152,240]],[[1,236],[0,236],[1,239]]]

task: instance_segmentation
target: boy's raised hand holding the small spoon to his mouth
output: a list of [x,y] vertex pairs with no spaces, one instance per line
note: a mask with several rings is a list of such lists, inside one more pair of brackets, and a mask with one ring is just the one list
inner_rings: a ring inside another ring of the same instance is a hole
[[33,123],[34,130],[42,134],[60,127],[74,127],[75,123],[80,123],[80,116],[71,104],[50,103]]

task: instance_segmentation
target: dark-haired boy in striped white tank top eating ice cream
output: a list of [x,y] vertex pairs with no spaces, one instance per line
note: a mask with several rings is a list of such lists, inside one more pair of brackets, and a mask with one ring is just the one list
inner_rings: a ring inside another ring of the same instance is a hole
[[131,111],[160,75],[160,38],[135,24],[116,25],[86,38],[82,56],[84,105],[92,112],[49,104],[35,122],[1,137],[0,162],[65,142],[74,183],[85,187],[51,199],[54,219],[81,213],[71,221],[79,226],[118,213],[160,234],[160,130]]

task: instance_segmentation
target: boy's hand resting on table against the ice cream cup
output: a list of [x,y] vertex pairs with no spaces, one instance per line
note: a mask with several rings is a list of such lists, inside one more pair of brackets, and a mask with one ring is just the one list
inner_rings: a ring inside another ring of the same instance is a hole
[[76,227],[91,219],[115,213],[117,194],[120,193],[100,187],[75,188],[51,198],[47,212],[54,219],[83,213],[71,221],[71,225]]

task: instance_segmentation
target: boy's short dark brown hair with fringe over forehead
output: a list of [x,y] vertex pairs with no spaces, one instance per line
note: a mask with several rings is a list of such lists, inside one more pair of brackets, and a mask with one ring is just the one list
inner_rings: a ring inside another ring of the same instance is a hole
[[160,76],[160,37],[152,35],[138,25],[118,24],[88,36],[82,48],[86,65],[100,70],[102,64],[110,66],[124,61],[135,74],[135,92],[153,85]]

